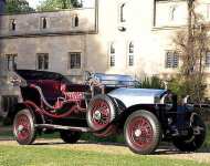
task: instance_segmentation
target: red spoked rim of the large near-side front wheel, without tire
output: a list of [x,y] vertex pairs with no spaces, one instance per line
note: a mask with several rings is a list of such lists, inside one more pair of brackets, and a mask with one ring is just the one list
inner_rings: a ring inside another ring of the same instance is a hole
[[154,139],[154,131],[150,122],[141,116],[132,120],[128,124],[128,136],[134,148],[147,148]]

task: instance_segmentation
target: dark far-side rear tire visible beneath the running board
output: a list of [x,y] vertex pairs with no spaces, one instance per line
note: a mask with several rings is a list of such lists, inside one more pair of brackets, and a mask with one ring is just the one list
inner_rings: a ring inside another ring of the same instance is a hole
[[60,135],[65,143],[74,144],[81,138],[82,133],[74,131],[60,131]]

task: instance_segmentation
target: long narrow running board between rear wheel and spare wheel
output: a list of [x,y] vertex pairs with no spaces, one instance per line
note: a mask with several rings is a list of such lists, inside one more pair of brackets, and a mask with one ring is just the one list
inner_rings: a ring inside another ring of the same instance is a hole
[[35,127],[41,128],[51,128],[51,129],[67,129],[67,131],[80,131],[80,132],[92,132],[87,127],[74,127],[74,126],[62,126],[62,125],[52,125],[52,124],[35,124]]

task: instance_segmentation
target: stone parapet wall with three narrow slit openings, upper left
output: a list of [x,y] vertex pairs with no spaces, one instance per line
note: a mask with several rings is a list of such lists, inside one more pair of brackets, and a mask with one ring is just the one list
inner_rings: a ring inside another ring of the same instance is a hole
[[[74,18],[78,18],[78,27],[74,27]],[[0,15],[0,38],[29,37],[29,35],[55,35],[72,33],[88,33],[95,31],[95,10],[77,9],[55,12],[34,12],[21,14]],[[46,28],[43,29],[43,18]],[[12,30],[14,20],[15,30]]]

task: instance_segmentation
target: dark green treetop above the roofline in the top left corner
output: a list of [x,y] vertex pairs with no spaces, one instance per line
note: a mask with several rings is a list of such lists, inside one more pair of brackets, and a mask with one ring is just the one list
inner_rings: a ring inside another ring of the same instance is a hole
[[27,0],[7,0],[6,2],[7,4],[4,11],[8,13],[34,11],[34,9],[29,6],[29,2]]

